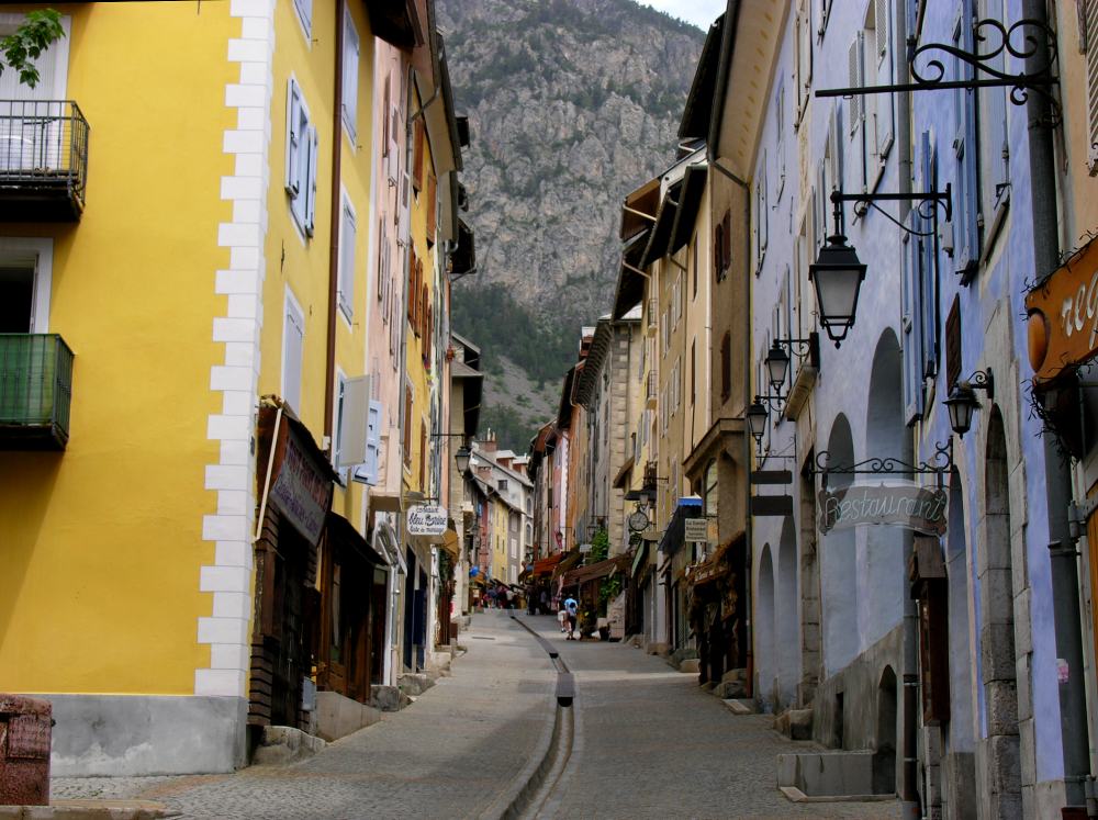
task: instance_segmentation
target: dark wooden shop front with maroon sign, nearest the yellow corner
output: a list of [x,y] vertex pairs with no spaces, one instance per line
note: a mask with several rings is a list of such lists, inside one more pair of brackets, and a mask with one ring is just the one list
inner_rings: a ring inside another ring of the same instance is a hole
[[312,720],[318,543],[335,473],[289,408],[266,402],[258,419],[256,595],[248,724],[309,729]]

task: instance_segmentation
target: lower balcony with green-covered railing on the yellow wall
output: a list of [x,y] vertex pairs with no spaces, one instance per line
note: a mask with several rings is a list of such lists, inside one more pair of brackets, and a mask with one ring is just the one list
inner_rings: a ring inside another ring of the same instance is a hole
[[0,450],[64,450],[72,351],[57,334],[0,334]]

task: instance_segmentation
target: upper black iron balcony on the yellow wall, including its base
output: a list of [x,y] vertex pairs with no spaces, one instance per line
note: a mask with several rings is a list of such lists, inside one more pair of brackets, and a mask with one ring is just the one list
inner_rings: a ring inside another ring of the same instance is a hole
[[88,132],[71,100],[0,100],[0,221],[80,218]]

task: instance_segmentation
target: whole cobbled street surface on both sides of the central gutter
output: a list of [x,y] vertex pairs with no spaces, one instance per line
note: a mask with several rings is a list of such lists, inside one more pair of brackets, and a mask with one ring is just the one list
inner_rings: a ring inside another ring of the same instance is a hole
[[[559,648],[578,686],[574,740],[539,817],[896,818],[898,804],[794,804],[769,716],[733,715],[694,675],[621,644],[565,642],[554,618],[519,616]],[[141,798],[182,818],[500,817],[546,755],[554,673],[498,611],[473,616],[468,653],[411,707],[285,766],[235,775],[55,778],[53,797]],[[533,813],[533,812],[531,812]]]

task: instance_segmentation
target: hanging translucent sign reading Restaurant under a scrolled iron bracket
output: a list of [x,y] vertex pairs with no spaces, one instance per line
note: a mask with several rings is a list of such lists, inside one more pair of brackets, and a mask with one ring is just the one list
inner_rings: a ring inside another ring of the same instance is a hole
[[927,535],[945,532],[948,495],[914,483],[853,484],[819,494],[820,532],[890,524]]

